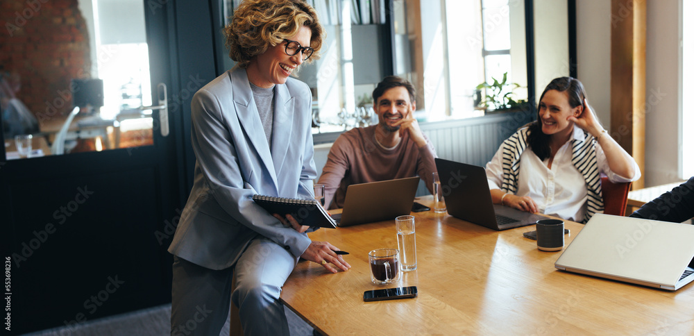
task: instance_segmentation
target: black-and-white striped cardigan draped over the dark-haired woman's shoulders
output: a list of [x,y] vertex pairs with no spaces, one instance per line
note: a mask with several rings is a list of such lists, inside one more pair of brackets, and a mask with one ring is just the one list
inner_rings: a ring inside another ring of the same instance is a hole
[[[518,169],[521,167],[521,154],[527,148],[527,135],[529,128],[521,128],[514,135],[505,140],[502,146],[502,170],[504,172],[501,190],[516,194],[518,190]],[[586,223],[596,213],[602,213],[602,185],[600,183],[600,171],[598,158],[595,156],[595,137],[590,133],[584,133],[583,140],[572,138],[573,155],[571,162],[581,172],[586,180],[588,201],[586,202],[586,215],[583,222]]]

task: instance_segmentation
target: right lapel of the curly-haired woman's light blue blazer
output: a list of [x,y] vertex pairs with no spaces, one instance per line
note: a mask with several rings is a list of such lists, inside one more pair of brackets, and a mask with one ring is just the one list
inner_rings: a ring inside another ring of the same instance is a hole
[[275,117],[272,122],[272,161],[277,172],[282,170],[287,150],[291,146],[289,141],[293,126],[294,97],[289,94],[287,85],[275,85]]

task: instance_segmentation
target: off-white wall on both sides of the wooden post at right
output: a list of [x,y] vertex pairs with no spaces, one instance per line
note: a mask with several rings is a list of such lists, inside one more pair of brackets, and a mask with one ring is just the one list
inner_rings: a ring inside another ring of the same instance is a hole
[[[679,179],[680,0],[648,1],[646,33],[645,186]],[[591,106],[609,126],[610,31],[609,1],[577,1],[578,77],[586,86]]]

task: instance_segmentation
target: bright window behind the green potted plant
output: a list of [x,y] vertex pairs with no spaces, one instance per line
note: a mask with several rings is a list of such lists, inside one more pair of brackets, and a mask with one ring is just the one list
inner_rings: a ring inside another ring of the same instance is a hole
[[[484,115],[484,89],[480,83],[518,83],[514,99],[527,99],[525,61],[525,9],[523,1],[446,0],[448,90],[452,117]],[[455,13],[455,14],[454,14]],[[423,23],[426,24],[426,23]],[[503,87],[501,94],[511,90]],[[491,94],[491,92],[489,92]],[[488,108],[489,109],[489,108]],[[434,118],[446,117],[445,110],[428,111]]]

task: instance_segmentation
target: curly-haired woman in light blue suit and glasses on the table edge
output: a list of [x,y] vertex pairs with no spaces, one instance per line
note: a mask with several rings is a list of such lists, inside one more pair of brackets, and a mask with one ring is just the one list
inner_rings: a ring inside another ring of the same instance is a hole
[[302,0],[246,0],[224,31],[237,65],[192,99],[196,165],[169,247],[171,334],[219,335],[233,301],[246,335],[289,335],[279,297],[298,259],[350,268],[336,246],[251,200],[313,199],[312,97],[289,76],[317,58],[323,28]]

